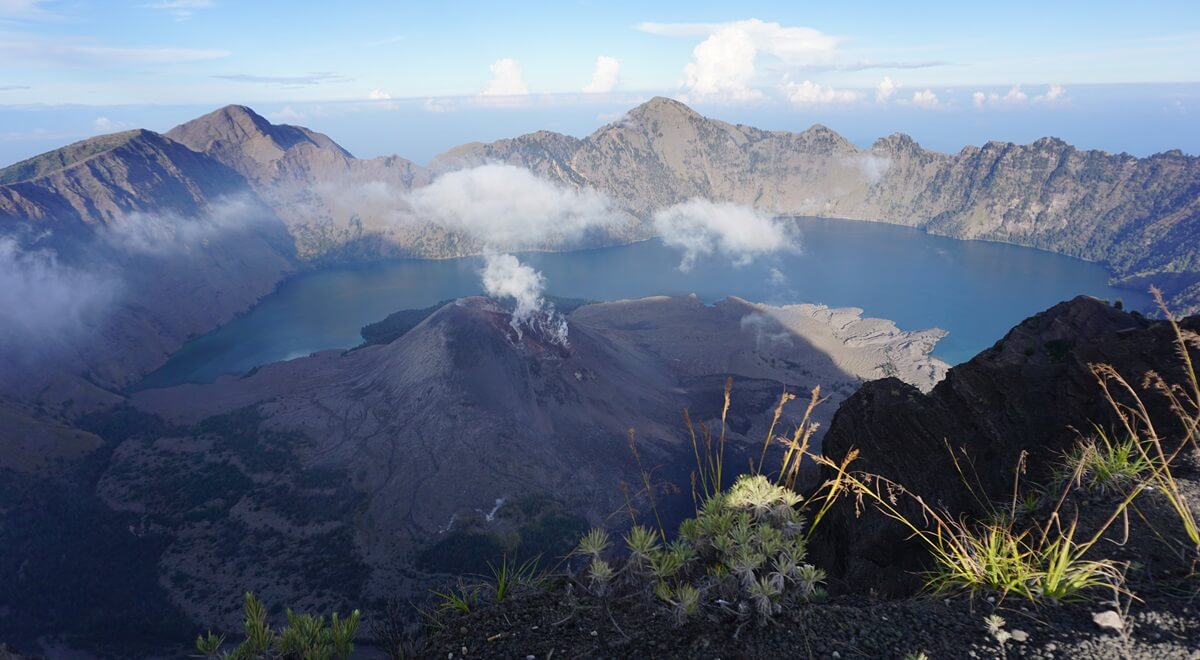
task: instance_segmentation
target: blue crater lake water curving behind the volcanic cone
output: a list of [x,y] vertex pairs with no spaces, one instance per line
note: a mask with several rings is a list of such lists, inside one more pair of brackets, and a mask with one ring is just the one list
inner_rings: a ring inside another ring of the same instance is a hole
[[[590,300],[695,293],[773,305],[862,307],[905,330],[942,328],[935,354],[958,364],[1021,319],[1078,294],[1145,308],[1145,292],[1109,286],[1104,268],[1039,250],[959,241],[890,224],[799,218],[803,251],[733,266],[680,254],[660,241],[565,253],[533,253],[547,294]],[[392,260],[310,272],[258,306],[185,344],[139,388],[211,382],[224,373],[361,343],[359,330],[398,310],[481,292],[482,259]],[[773,269],[782,276],[773,274]]]

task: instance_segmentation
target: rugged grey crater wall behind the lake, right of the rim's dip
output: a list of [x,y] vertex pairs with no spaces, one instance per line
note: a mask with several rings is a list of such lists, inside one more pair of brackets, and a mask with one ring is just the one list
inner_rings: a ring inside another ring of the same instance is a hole
[[1180,151],[1136,158],[1043,138],[941,154],[904,134],[859,149],[824,126],[761,131],[658,97],[582,140],[532,133],[458,148],[432,167],[486,160],[595,187],[643,221],[704,197],[1039,247],[1200,310],[1200,158]]

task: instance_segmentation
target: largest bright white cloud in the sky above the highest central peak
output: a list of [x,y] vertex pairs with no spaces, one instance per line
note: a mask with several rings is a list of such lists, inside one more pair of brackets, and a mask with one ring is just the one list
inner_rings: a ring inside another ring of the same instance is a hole
[[703,37],[684,67],[689,97],[708,101],[762,98],[754,89],[756,60],[767,54],[786,66],[829,61],[841,41],[811,28],[790,28],[751,18],[732,23],[642,23],[643,32]]

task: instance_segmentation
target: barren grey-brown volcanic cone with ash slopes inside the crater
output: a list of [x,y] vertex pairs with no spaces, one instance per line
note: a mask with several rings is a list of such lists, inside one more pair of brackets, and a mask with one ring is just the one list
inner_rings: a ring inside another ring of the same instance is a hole
[[[620,484],[640,480],[630,428],[643,464],[676,493],[659,500],[676,520],[691,506],[694,462],[680,412],[718,418],[727,376],[732,457],[761,446],[785,386],[822,384],[838,402],[863,379],[899,373],[928,389],[946,370],[928,355],[937,332],[902,332],[854,311],[661,298],[586,305],[566,324],[559,342],[514,326],[488,299],[462,299],[386,344],[139,392],[137,409],[192,431],[121,444],[98,492],[169,539],[156,570],[181,586],[170,600],[196,620],[234,625],[247,588],[313,606],[419,599],[443,572],[486,570],[502,552],[557,557],[572,533],[608,520],[623,505]],[[293,438],[288,467],[266,468],[239,454],[251,448],[204,433],[205,420],[229,415]],[[194,521],[155,497],[208,469],[221,482],[271,486],[220,493],[228,515]],[[340,484],[337,508],[304,504],[322,502],[306,486],[313,475]],[[230,553],[227,534],[253,540]],[[527,540],[508,547],[514,534]],[[314,538],[322,542],[305,550]],[[294,550],[263,560],[277,542]],[[290,562],[310,553],[358,566],[355,580],[330,592],[289,582]]]

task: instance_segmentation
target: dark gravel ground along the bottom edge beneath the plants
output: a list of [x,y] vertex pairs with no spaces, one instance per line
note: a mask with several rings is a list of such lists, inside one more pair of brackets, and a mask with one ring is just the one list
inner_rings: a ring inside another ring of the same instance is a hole
[[[1109,607],[1032,608],[1013,600],[840,598],[797,605],[773,624],[727,619],[676,626],[635,598],[572,598],[564,583],[446,619],[428,658],[1193,658],[1200,659],[1200,602],[1134,604],[1124,629],[1102,628]],[[1001,644],[984,619],[1006,620]]]

